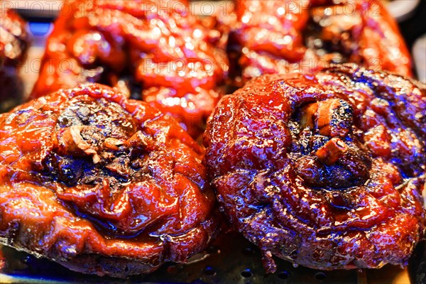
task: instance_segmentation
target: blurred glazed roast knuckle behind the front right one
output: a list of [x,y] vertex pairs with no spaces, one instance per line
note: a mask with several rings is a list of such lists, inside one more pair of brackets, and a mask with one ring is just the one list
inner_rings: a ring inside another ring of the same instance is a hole
[[410,76],[410,54],[383,2],[337,2],[236,0],[228,43],[236,84],[343,62]]

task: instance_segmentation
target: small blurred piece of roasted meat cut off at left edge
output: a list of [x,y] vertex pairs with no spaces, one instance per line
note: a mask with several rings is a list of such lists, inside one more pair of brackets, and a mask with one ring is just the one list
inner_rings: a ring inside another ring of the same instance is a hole
[[22,102],[18,67],[25,60],[29,39],[25,21],[13,10],[1,5],[0,20],[0,112],[3,112]]

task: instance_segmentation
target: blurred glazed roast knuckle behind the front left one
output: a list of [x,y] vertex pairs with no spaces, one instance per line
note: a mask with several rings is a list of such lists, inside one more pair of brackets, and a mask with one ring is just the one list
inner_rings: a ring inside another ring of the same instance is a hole
[[101,82],[200,135],[228,67],[214,47],[219,34],[202,26],[186,1],[74,1],[66,9],[48,38],[33,98]]

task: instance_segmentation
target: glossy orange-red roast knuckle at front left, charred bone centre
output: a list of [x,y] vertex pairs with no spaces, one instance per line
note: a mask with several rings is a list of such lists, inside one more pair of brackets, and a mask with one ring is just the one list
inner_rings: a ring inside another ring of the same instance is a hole
[[0,241],[125,277],[214,238],[203,151],[175,119],[98,84],[0,115]]

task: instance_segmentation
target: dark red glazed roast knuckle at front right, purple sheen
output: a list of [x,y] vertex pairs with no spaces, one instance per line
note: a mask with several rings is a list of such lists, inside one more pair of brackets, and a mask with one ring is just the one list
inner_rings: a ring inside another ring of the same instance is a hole
[[204,163],[268,272],[272,254],[324,270],[405,266],[425,234],[425,114],[425,85],[387,72],[263,75],[221,99]]

